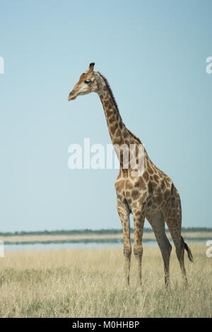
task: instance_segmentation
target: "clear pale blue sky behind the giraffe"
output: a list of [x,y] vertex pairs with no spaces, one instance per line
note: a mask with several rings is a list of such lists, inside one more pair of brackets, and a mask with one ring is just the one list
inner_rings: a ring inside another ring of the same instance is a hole
[[211,227],[211,13],[211,1],[0,0],[1,232],[121,227],[118,171],[68,167],[71,143],[110,143],[98,95],[67,101],[92,61],[177,186],[182,225]]

